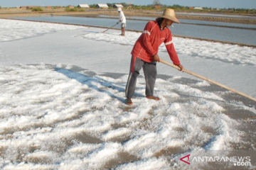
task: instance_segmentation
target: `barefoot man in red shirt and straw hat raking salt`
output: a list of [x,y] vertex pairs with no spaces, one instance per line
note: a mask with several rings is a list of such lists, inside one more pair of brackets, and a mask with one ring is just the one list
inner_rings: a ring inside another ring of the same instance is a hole
[[127,99],[125,103],[132,105],[132,96],[136,88],[137,77],[140,69],[143,68],[146,80],[146,98],[159,101],[160,98],[154,96],[154,84],[156,82],[156,62],[159,62],[158,50],[161,43],[164,42],[166,50],[171,61],[183,70],[181,62],[172,42],[171,30],[168,28],[172,23],[179,23],[175,16],[174,9],[167,8],[162,16],[156,18],[156,21],[149,21],[137,42],[132,49],[132,61],[130,73],[125,89]]

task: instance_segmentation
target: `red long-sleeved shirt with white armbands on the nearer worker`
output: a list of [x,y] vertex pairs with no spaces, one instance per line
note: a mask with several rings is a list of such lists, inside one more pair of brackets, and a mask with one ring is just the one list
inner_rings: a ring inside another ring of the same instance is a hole
[[145,62],[153,62],[154,55],[158,53],[161,43],[166,45],[171,61],[175,64],[181,64],[178,60],[177,52],[172,42],[171,30],[164,28],[161,30],[156,21],[149,21],[137,42],[132,49],[132,56],[139,57]]

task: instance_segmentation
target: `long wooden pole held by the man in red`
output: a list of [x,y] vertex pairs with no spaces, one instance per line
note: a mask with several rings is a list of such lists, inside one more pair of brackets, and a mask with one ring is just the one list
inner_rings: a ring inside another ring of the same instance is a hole
[[[180,69],[178,66],[176,66],[176,65],[174,65],[174,64],[171,64],[170,62],[166,62],[165,60],[161,60],[161,59],[160,59],[160,62],[163,63],[163,64],[166,64],[166,65],[169,65],[169,66],[171,66],[171,67],[174,67],[175,69]],[[208,81],[208,82],[210,82],[210,83],[212,83],[212,84],[215,84],[215,85],[217,85],[217,86],[223,87],[224,89],[228,89],[229,91],[233,91],[233,92],[235,92],[236,94],[240,94],[241,96],[244,96],[244,97],[246,97],[246,98],[250,98],[252,101],[256,101],[256,98],[252,98],[251,96],[248,96],[247,94],[243,94],[243,93],[240,92],[240,91],[237,91],[237,90],[235,90],[235,89],[231,89],[231,88],[228,87],[228,86],[225,86],[225,85],[220,84],[220,83],[218,83],[218,82],[216,82],[216,81],[213,81],[213,80],[211,80],[211,79],[208,79],[208,78],[206,78],[206,77],[203,77],[203,76],[201,76],[201,75],[198,75],[198,74],[196,74],[196,73],[194,73],[194,72],[190,72],[190,71],[188,71],[187,69],[183,69],[183,72],[186,72],[187,74],[191,74],[191,75],[194,76],[194,77],[198,77],[199,79],[206,80],[206,81]]]

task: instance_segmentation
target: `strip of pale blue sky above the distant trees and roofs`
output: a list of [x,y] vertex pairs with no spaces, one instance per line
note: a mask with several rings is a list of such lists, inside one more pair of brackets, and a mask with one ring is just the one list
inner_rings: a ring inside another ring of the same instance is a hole
[[[77,5],[77,4],[105,4],[105,3],[132,3],[136,5],[147,5],[153,4],[154,0],[137,0],[137,1],[118,1],[118,0],[0,0],[0,6],[2,7],[16,7],[16,6],[28,6],[28,5],[39,5],[39,6],[68,6],[68,5]],[[181,6],[201,6],[208,8],[256,8],[255,0],[215,0],[215,1],[206,1],[206,0],[160,0],[161,4],[174,5],[178,4]]]

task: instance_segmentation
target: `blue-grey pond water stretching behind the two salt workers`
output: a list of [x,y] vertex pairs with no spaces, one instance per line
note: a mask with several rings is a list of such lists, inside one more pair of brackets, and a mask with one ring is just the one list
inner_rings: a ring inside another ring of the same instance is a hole
[[[142,19],[142,17],[133,17]],[[33,20],[33,21],[50,21],[58,23],[71,23],[85,26],[102,26],[110,28],[117,23],[118,18],[87,18],[71,16],[40,16],[40,17],[20,17],[16,19]],[[143,30],[147,21],[154,18],[143,18],[142,20],[127,20],[127,30]],[[171,31],[174,35],[189,36],[194,38],[205,38],[210,40],[221,40],[228,42],[239,42],[243,44],[256,45],[256,30],[247,30],[242,28],[256,28],[253,25],[234,24],[234,23],[217,23],[208,21],[187,21],[181,20],[180,24],[174,24]],[[216,26],[199,26],[186,23],[203,23],[208,25],[235,26],[242,28],[223,28]],[[120,28],[120,24],[114,26]]]

